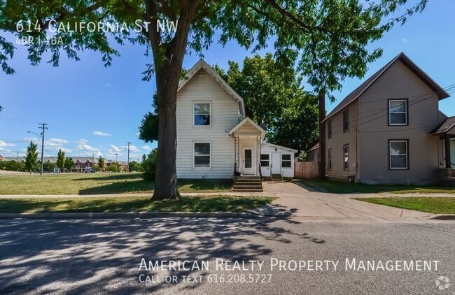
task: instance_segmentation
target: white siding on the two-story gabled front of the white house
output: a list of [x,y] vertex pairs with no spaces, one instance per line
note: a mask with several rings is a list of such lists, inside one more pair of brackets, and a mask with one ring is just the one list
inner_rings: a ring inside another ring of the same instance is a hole
[[[211,102],[211,126],[193,126],[193,101]],[[232,178],[239,103],[201,69],[177,94],[177,178]],[[193,168],[193,142],[211,142],[211,168]]]

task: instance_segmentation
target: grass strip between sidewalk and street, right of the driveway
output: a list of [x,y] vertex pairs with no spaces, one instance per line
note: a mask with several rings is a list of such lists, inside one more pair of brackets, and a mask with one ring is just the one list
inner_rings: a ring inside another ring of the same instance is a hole
[[455,198],[393,197],[356,200],[434,214],[455,214]]

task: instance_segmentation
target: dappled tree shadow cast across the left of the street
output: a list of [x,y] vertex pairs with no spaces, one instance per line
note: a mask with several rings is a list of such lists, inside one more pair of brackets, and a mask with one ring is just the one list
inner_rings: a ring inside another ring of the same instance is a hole
[[[289,221],[290,222],[290,221]],[[2,220],[0,294],[199,292],[201,283],[139,282],[146,261],[265,260],[270,244],[295,243],[302,252],[325,240],[291,229],[288,220]],[[159,273],[161,274],[161,273]],[[204,275],[169,271],[165,275]]]

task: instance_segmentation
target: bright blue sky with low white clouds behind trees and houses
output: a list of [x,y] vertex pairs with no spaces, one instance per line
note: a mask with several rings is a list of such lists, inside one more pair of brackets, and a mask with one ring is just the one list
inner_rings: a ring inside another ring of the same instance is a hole
[[[426,10],[409,18],[403,27],[394,27],[384,38],[370,48],[383,48],[384,55],[369,65],[368,75],[377,71],[390,59],[405,52],[423,71],[442,87],[455,83],[455,1],[429,1]],[[139,45],[120,46],[121,57],[112,66],[104,68],[97,52],[80,52],[80,62],[63,57],[60,66],[42,62],[30,66],[27,52],[17,45],[10,63],[14,75],[0,73],[0,154],[25,155],[25,147],[38,136],[38,123],[48,123],[45,155],[56,155],[62,148],[73,156],[102,154],[108,159],[125,161],[126,143],[132,142],[131,159],[140,159],[156,143],[144,143],[137,137],[144,113],[151,108],[155,80],[144,82],[141,72],[150,57]],[[260,54],[264,54],[263,50]],[[241,62],[251,51],[240,48],[235,42],[224,48],[214,45],[204,52],[209,64],[227,69],[228,60]],[[190,68],[197,55],[188,55],[183,66]],[[43,59],[47,60],[46,57]],[[343,89],[335,93],[337,102],[355,89],[363,79],[346,79]],[[326,103],[328,111],[337,104]],[[455,115],[453,98],[440,103],[440,110]]]

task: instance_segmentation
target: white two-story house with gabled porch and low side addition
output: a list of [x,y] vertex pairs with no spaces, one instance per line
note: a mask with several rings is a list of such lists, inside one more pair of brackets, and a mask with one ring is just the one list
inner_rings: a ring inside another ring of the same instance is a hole
[[245,116],[239,94],[209,64],[197,62],[181,80],[177,94],[177,177],[292,178],[297,151],[277,145],[267,151],[270,145],[263,143],[264,138],[265,130]]

